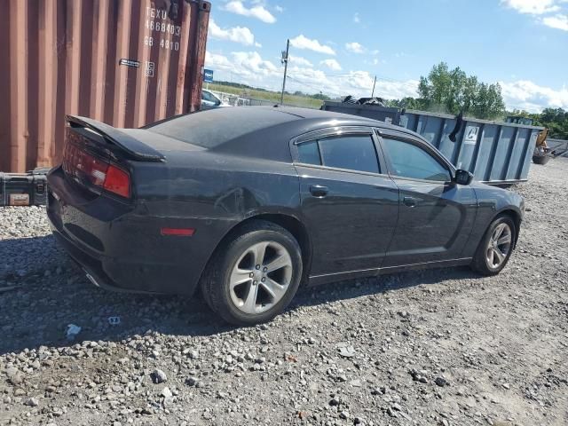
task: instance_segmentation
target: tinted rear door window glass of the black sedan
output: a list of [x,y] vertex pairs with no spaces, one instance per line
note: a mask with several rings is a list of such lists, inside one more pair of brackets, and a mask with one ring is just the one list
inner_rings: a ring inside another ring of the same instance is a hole
[[338,169],[380,173],[370,135],[321,138],[298,145],[298,160]]

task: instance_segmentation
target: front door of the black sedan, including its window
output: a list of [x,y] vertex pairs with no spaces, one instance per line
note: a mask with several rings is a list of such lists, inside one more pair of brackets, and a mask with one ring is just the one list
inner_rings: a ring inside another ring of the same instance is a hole
[[398,225],[383,267],[460,258],[477,211],[476,194],[453,182],[454,169],[419,138],[381,133],[390,177],[398,185]]

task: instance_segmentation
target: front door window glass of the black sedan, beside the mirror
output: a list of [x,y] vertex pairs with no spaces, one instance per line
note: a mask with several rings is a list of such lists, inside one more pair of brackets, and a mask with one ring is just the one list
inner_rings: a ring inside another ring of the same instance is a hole
[[394,138],[383,138],[383,146],[389,154],[394,176],[440,182],[452,180],[449,170],[420,146]]

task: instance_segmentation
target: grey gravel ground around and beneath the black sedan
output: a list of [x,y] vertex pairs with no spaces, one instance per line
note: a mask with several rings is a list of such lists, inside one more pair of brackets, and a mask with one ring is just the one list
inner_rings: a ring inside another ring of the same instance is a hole
[[568,424],[567,178],[557,159],[511,188],[527,214],[497,277],[302,289],[251,328],[99,290],[43,209],[0,209],[0,424]]

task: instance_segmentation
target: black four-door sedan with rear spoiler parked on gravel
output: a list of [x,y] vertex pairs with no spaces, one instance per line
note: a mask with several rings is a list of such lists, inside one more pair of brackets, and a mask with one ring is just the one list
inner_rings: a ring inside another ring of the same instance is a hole
[[507,264],[524,201],[421,136],[358,116],[222,108],[117,130],[68,116],[53,233],[99,287],[192,295],[272,319],[298,286]]

